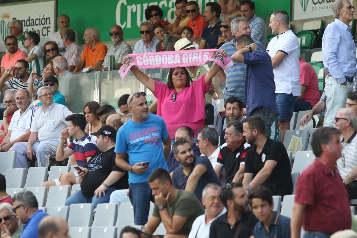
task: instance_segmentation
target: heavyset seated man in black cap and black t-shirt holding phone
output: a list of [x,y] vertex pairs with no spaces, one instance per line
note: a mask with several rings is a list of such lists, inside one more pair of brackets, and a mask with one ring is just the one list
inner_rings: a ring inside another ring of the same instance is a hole
[[115,129],[102,126],[92,135],[97,136],[99,151],[89,159],[82,171],[77,171],[83,179],[81,190],[67,198],[66,206],[73,203],[94,203],[95,209],[98,203],[109,203],[110,194],[115,190],[129,187],[127,172],[115,164]]

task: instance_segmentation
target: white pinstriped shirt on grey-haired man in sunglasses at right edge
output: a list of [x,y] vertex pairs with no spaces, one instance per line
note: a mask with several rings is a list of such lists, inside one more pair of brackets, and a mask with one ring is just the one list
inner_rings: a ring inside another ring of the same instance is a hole
[[337,159],[336,164],[341,178],[345,179],[357,166],[357,131],[345,142],[341,140],[342,157]]

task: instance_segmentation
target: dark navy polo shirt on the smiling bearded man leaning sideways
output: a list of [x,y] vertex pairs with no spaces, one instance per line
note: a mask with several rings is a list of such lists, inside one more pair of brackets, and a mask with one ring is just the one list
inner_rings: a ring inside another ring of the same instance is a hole
[[220,179],[218,179],[217,174],[215,173],[215,170],[212,167],[211,161],[206,156],[201,156],[201,157],[195,156],[195,162],[194,162],[193,166],[191,167],[191,170],[188,173],[188,176],[186,176],[183,173],[183,171],[182,171],[183,167],[182,167],[182,164],[180,164],[174,170],[174,174],[172,175],[172,185],[174,185],[175,188],[185,190],[188,177],[190,177],[190,174],[192,173],[193,169],[199,164],[205,166],[207,169],[207,171],[204,174],[202,174],[202,176],[198,179],[197,186],[195,188],[195,191],[193,192],[193,194],[195,194],[196,198],[199,201],[201,201],[202,190],[208,183],[215,183],[218,185],[221,184]]

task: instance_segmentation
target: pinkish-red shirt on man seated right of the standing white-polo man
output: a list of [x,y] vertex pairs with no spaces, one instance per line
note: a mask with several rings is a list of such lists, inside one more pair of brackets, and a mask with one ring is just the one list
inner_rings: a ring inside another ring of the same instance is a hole
[[305,85],[305,93],[302,99],[315,106],[320,101],[320,90],[318,89],[318,78],[313,67],[303,59],[299,61],[300,66],[300,85]]

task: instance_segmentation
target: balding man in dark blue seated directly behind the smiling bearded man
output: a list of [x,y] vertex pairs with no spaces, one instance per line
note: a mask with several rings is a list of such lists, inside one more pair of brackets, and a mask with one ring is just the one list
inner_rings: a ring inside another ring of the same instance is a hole
[[[193,143],[193,135],[194,135],[193,130],[190,127],[188,126],[178,127],[175,132],[175,141],[181,138],[186,139],[188,143],[190,143],[195,156],[200,156],[201,155],[200,148],[196,146],[196,143]],[[172,141],[171,143],[174,144],[174,142]],[[170,152],[169,158],[167,158],[166,163],[167,163],[167,167],[169,168],[169,173],[174,171],[180,165],[180,162],[175,159],[174,153],[172,153],[172,151]]]

